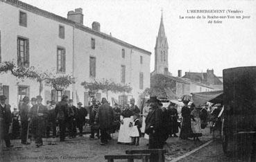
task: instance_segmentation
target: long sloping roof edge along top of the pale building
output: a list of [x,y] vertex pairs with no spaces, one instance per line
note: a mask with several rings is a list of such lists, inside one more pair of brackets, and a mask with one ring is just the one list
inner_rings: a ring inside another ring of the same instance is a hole
[[96,35],[96,36],[99,36],[99,37],[102,37],[103,39],[108,39],[114,43],[117,43],[117,44],[120,44],[121,46],[126,46],[128,48],[132,48],[134,50],[137,50],[137,51],[140,51],[146,55],[151,55],[151,52],[149,51],[146,51],[142,48],[139,48],[137,46],[133,46],[132,44],[128,44],[126,42],[123,42],[121,41],[120,39],[117,39],[117,38],[114,38],[110,35],[107,35],[105,33],[101,33],[101,32],[98,32],[98,31],[95,31],[95,30],[92,30],[92,28],[89,28],[87,26],[83,26],[82,24],[78,24],[74,21],[71,21],[65,17],[60,17],[58,15],[55,15],[53,14],[52,12],[48,12],[46,10],[42,10],[40,8],[37,8],[35,6],[32,6],[28,3],[24,3],[22,1],[18,1],[18,0],[6,0],[6,1],[3,1],[4,3],[8,3],[12,6],[15,6],[17,8],[22,8],[23,10],[27,10],[29,12],[33,12],[34,14],[37,14],[37,15],[40,15],[42,17],[46,17],[46,18],[49,18],[49,19],[53,19],[54,21],[59,21],[63,24],[67,24],[67,25],[70,25],[70,26],[74,26],[74,28],[78,28],[80,30],[83,30],[87,33],[90,33],[92,35]]

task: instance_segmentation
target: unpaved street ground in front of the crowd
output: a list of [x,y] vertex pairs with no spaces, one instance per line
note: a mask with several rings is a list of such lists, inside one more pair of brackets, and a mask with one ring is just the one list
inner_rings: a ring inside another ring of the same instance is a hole
[[[194,150],[194,148],[206,143],[210,140],[209,129],[205,129],[201,137],[200,142],[194,142],[191,140],[181,140],[180,138],[169,138],[164,148],[167,149],[168,154],[166,161],[178,157],[186,152]],[[1,152],[0,161],[105,161],[105,154],[125,154],[126,150],[132,149],[146,149],[146,143],[148,140],[141,138],[139,146],[132,145],[118,145],[117,144],[118,133],[113,135],[113,140],[108,145],[100,145],[100,140],[89,140],[89,134],[83,137],[76,137],[57,145],[48,145],[48,141],[52,138],[44,138],[44,145],[40,148],[36,148],[32,142],[31,145],[22,145],[19,140],[12,141],[15,145],[11,149],[3,147]],[[59,139],[58,139],[59,140]]]

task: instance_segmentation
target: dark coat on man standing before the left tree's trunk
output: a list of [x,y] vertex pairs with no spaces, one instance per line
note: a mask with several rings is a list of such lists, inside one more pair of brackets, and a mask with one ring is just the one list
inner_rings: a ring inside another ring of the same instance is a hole
[[[42,113],[43,116],[37,116],[38,113]],[[31,129],[34,135],[45,134],[48,114],[48,109],[44,105],[34,105],[31,107],[28,116],[31,117]]]

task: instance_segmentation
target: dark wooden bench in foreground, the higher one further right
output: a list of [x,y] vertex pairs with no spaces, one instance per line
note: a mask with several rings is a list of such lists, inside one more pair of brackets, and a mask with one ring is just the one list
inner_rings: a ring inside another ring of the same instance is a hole
[[164,162],[164,154],[167,150],[164,149],[148,149],[148,150],[126,150],[126,154],[151,154],[149,161]]

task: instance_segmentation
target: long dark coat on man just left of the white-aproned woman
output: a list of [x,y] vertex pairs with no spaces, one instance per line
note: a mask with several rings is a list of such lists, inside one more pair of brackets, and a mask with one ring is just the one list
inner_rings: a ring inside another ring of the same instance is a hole
[[100,129],[110,129],[114,122],[114,110],[107,103],[99,107],[96,115],[96,122],[99,123]]

